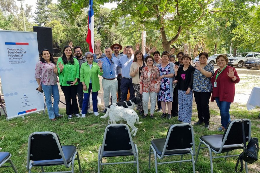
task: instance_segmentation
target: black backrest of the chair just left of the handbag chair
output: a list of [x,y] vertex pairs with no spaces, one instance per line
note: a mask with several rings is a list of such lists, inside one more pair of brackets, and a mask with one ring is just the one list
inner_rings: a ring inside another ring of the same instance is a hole
[[194,132],[191,124],[175,124],[169,127],[165,140],[165,149],[186,149],[192,146],[195,147],[193,144]]

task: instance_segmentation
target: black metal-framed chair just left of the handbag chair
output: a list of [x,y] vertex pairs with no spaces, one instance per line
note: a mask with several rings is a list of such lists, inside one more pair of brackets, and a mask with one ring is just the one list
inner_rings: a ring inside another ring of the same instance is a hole
[[[166,138],[154,139],[151,141],[149,149],[149,161],[148,168],[151,165],[151,153],[154,153],[155,160],[155,172],[157,173],[157,165],[165,163],[181,163],[192,162],[193,172],[195,173],[194,157],[195,156],[195,142],[194,132],[191,124],[175,124],[171,125],[168,129]],[[151,151],[153,150],[153,152]],[[184,154],[190,154],[191,159],[182,160]],[[181,160],[169,161],[169,162],[158,162],[157,158],[162,159],[164,156],[176,156],[180,155]]]

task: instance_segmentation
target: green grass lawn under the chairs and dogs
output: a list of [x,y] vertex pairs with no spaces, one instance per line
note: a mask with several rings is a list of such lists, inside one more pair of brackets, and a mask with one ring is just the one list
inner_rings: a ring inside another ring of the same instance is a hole
[[[101,110],[101,109],[100,109]],[[60,114],[65,115],[65,109],[60,109]],[[196,113],[197,110],[194,107],[193,112]],[[249,118],[252,121],[252,136],[260,139],[260,121],[257,118],[259,114],[259,109],[254,109],[254,111],[247,111],[245,105],[231,104],[231,116],[232,119],[236,118]],[[100,116],[104,113],[100,113]],[[211,115],[218,116],[218,109],[211,109]],[[150,141],[156,138],[164,138],[166,136],[168,127],[171,124],[179,123],[177,117],[173,117],[171,120],[166,118],[160,118],[161,113],[155,113],[155,118],[140,118],[139,121],[143,124],[136,125],[138,128],[137,135],[133,137],[133,142],[137,144],[139,151],[139,167],[140,172],[155,172],[154,167],[154,156],[152,156],[151,170],[148,170],[148,152]],[[192,121],[197,121],[197,115],[193,115]],[[67,116],[58,119],[55,122],[51,122],[48,118],[47,111],[45,115],[42,113],[35,113],[24,118],[17,118],[14,120],[6,121],[5,117],[0,118],[0,151],[8,151],[12,154],[12,161],[15,164],[19,173],[27,172],[26,157],[27,157],[27,143],[28,137],[31,133],[35,131],[53,131],[56,132],[60,137],[60,142],[62,145],[75,145],[78,148],[82,171],[83,172],[97,172],[97,153],[98,148],[102,143],[104,129],[107,125],[108,118],[102,119],[94,116],[93,114],[87,114],[86,118],[75,118],[72,120],[67,120]],[[215,129],[219,127],[220,122],[217,126],[216,122],[211,123],[211,130],[204,129],[204,125],[193,126],[195,135],[196,152],[199,145],[199,138],[206,134],[222,134],[223,132],[218,132]],[[131,130],[131,128],[130,128]],[[236,152],[230,152],[229,154],[239,154],[242,150]],[[215,154],[213,154],[215,155]],[[110,162],[115,161],[127,161],[133,157],[124,156],[118,158],[105,158]],[[166,157],[163,160],[169,161],[169,159],[180,158],[180,156]],[[184,156],[185,158],[190,158],[190,155]],[[235,158],[224,158],[213,159],[213,169],[214,172],[235,172]],[[161,160],[160,160],[161,161]],[[75,162],[75,171],[79,172],[78,164]],[[249,165],[249,172],[260,172],[260,161],[257,161]],[[65,166],[51,166],[45,167],[46,172],[51,171],[65,171],[67,168]],[[195,170],[197,172],[210,172],[210,162],[209,162],[209,151],[207,149],[202,149],[200,155],[195,165]],[[33,168],[32,172],[40,172],[40,167]],[[13,172],[12,168],[0,168],[0,172],[10,173]],[[104,165],[102,172],[117,172],[117,173],[128,173],[136,172],[136,168],[133,164],[120,164],[120,165]],[[158,172],[192,172],[192,163],[185,162],[179,167],[178,163],[163,164],[158,166]],[[244,169],[245,172],[245,169]]]

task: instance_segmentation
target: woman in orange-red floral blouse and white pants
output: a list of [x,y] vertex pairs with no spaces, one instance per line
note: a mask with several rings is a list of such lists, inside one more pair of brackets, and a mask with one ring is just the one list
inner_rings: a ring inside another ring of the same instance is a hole
[[147,117],[148,114],[148,101],[150,96],[151,108],[150,118],[154,118],[154,109],[156,105],[156,95],[160,90],[160,73],[159,69],[154,66],[154,58],[147,56],[145,58],[147,66],[143,67],[141,76],[139,79],[140,83],[140,94],[143,94],[143,109],[144,115],[142,118]]

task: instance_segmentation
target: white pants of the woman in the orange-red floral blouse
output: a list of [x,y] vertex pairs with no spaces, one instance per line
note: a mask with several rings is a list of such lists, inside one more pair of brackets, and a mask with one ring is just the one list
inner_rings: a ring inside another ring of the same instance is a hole
[[144,114],[148,114],[148,101],[150,96],[150,102],[151,102],[151,108],[150,113],[154,114],[154,109],[156,105],[156,92],[153,93],[145,93],[143,92],[143,108],[144,108]]

